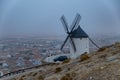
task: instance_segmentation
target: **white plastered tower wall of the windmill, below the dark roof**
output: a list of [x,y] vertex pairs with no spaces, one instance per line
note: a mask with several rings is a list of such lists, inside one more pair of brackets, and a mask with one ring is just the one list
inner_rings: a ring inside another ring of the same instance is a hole
[[76,51],[70,44],[70,56],[75,59],[81,54],[88,52],[89,53],[89,39],[88,38],[72,38],[76,46]]

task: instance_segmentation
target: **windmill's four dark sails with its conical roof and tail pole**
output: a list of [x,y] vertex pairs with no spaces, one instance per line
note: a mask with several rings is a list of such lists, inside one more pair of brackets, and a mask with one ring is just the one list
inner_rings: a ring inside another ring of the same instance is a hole
[[64,43],[61,46],[61,50],[65,46],[66,42],[69,40],[73,50],[76,51],[76,45],[75,45],[74,40],[72,38],[88,38],[92,42],[92,44],[94,44],[97,48],[99,48],[99,46],[80,27],[80,25],[79,25],[80,19],[81,19],[80,14],[76,14],[76,17],[73,20],[73,22],[69,28],[65,16],[63,15],[61,17],[61,22],[63,24],[65,32],[68,34]]

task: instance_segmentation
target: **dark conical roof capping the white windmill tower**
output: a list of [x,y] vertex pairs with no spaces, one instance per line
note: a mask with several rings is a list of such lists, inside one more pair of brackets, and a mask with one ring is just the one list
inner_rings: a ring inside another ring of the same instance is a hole
[[88,35],[82,30],[80,26],[71,33],[72,38],[87,38]]

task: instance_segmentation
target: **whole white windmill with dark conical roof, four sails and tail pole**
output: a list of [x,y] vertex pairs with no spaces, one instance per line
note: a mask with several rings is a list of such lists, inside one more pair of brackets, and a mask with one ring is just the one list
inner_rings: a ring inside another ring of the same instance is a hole
[[76,17],[70,27],[68,27],[68,24],[66,22],[65,16],[63,15],[61,17],[61,22],[64,26],[65,32],[68,34],[64,43],[61,46],[61,50],[65,46],[66,42],[69,40],[71,43],[70,45],[70,57],[71,58],[77,58],[81,54],[88,52],[89,53],[89,40],[97,47],[92,39],[82,30],[82,28],[79,25],[81,16],[80,14],[76,14]]

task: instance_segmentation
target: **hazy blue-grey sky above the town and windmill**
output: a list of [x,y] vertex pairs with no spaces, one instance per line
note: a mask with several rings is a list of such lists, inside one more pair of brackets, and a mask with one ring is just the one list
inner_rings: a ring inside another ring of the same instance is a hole
[[60,17],[76,13],[90,35],[120,33],[120,0],[0,0],[0,36],[65,35]]

